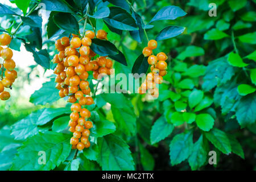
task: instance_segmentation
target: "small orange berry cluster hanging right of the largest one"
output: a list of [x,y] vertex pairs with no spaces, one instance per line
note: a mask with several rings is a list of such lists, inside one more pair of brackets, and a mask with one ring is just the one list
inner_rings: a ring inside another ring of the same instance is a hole
[[142,51],[144,57],[148,57],[148,64],[151,65],[151,72],[147,74],[146,80],[141,84],[138,89],[139,94],[144,94],[149,91],[151,96],[158,97],[159,90],[156,87],[156,84],[162,84],[163,76],[167,74],[167,63],[166,60],[168,57],[164,52],[158,53],[156,56],[152,55],[153,49],[158,47],[156,40],[150,40],[148,46],[145,47]]

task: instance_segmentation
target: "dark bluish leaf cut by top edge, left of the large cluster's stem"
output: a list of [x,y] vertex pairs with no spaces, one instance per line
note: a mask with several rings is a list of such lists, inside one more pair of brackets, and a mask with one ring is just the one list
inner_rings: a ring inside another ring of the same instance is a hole
[[59,11],[63,13],[73,13],[71,8],[62,0],[41,0],[41,3],[46,5],[46,10],[48,11]]

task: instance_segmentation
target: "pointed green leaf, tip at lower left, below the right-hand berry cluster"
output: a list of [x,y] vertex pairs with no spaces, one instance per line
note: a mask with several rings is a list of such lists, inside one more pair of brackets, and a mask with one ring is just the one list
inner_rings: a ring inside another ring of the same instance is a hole
[[167,123],[163,116],[160,117],[152,126],[150,132],[151,144],[158,143],[160,140],[168,137],[172,133],[172,130],[174,130],[174,125]]

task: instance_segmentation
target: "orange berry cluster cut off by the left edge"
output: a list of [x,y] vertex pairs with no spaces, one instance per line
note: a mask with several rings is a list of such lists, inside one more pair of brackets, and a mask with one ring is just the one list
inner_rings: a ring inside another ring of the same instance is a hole
[[[0,64],[1,81],[0,81],[0,99],[2,101],[9,100],[10,93],[5,91],[5,88],[10,88],[17,78],[17,72],[14,70],[16,64],[13,59],[13,51],[9,48],[11,36],[8,34],[0,35],[0,53],[3,59],[3,64]],[[7,47],[2,47],[7,46]],[[3,75],[5,73],[5,75]]]

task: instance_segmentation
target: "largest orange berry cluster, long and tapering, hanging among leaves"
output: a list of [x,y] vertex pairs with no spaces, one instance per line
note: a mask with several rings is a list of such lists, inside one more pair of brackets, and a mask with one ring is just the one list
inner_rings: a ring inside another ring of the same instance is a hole
[[[73,34],[72,34],[73,35]],[[107,33],[99,30],[96,37],[106,39]],[[93,31],[86,31],[83,38],[73,35],[70,40],[63,37],[55,42],[55,47],[59,53],[53,57],[53,63],[57,66],[54,73],[56,88],[59,89],[61,98],[68,96],[68,102],[72,103],[71,115],[68,126],[73,133],[70,140],[73,149],[83,150],[90,147],[89,135],[93,123],[89,121],[90,111],[84,108],[92,105],[93,98],[90,97],[90,87],[87,78],[90,71],[93,77],[100,79],[99,75],[110,75],[112,60],[106,57],[96,57],[96,53],[90,49],[92,39],[95,37]]]

